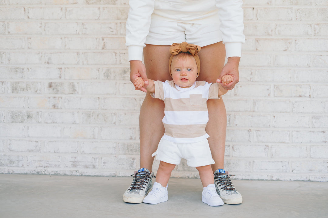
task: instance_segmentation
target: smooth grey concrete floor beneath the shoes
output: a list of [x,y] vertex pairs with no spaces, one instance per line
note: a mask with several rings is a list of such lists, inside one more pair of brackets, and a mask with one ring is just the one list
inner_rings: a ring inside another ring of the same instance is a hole
[[48,217],[328,217],[327,182],[233,180],[240,205],[201,202],[199,179],[171,178],[169,200],[157,205],[122,200],[132,177],[0,174],[0,218]]

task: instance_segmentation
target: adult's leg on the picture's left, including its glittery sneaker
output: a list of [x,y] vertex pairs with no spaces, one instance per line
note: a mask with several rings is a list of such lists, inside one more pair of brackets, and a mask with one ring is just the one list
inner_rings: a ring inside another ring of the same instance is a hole
[[[147,77],[153,80],[165,81],[169,76],[168,62],[170,46],[149,45],[144,48],[144,63]],[[164,135],[162,119],[164,103],[154,99],[149,93],[142,103],[139,117],[140,127],[140,170],[134,174],[133,181],[123,194],[123,200],[129,203],[141,203],[152,188],[152,165],[157,145]]]

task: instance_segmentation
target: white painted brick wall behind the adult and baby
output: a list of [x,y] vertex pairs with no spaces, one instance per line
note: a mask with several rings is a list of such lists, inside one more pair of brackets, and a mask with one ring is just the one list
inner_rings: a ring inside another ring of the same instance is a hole
[[[328,181],[328,3],[245,0],[225,168]],[[130,176],[144,93],[129,81],[128,0],[0,0],[0,172]],[[154,162],[153,170],[158,167]],[[182,160],[172,176],[198,177]]]

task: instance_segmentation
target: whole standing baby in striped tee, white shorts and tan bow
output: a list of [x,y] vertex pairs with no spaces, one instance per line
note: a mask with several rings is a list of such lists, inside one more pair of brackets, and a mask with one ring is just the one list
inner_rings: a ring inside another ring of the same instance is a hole
[[[200,72],[198,51],[201,47],[182,42],[173,43],[170,48],[169,72],[172,80],[154,81],[148,79],[145,87],[152,97],[164,101],[165,128],[158,148],[153,156],[160,160],[153,189],[143,202],[158,204],[168,199],[168,181],[171,172],[181,158],[187,159],[187,164],[196,167],[203,185],[202,202],[210,206],[223,205],[216,193],[214,175],[211,164],[214,164],[207,141],[209,135],[205,131],[208,122],[206,101],[219,99],[228,92],[220,83],[196,81]],[[233,76],[224,75],[223,84],[233,81]],[[134,80],[134,87],[144,87],[141,77]]]

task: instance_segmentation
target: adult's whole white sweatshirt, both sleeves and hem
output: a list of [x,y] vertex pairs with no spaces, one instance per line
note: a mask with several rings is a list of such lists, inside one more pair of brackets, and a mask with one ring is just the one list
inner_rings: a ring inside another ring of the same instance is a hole
[[220,23],[226,56],[240,57],[243,35],[242,0],[130,0],[126,23],[129,61],[142,60],[151,19],[195,24]]

